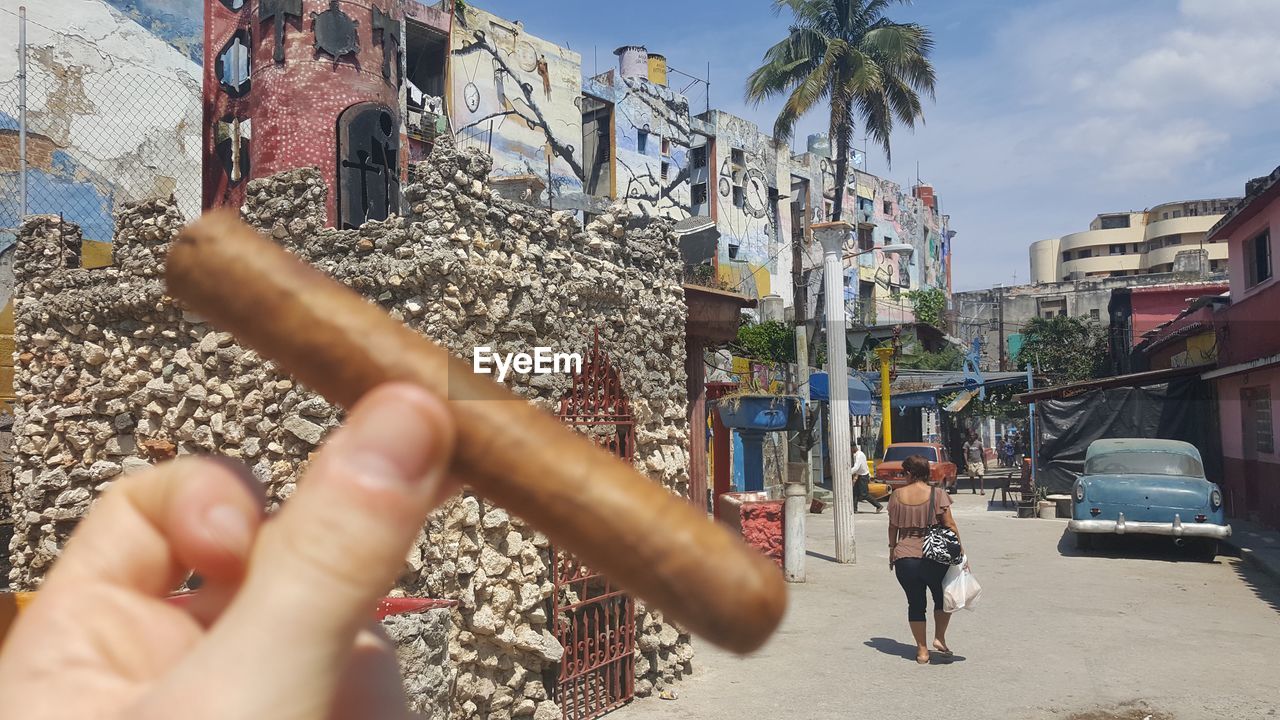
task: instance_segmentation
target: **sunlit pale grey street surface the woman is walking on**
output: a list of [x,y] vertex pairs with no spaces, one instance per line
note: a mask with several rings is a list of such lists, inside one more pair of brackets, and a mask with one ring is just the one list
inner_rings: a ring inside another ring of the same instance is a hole
[[856,566],[823,556],[829,512],[808,519],[809,582],[774,639],[746,659],[700,643],[678,700],[611,720],[1280,717],[1280,585],[1236,559],[1129,542],[1082,556],[1065,521],[964,491],[956,519],[986,594],[952,623],[956,661],[918,666],[884,516],[858,515]]

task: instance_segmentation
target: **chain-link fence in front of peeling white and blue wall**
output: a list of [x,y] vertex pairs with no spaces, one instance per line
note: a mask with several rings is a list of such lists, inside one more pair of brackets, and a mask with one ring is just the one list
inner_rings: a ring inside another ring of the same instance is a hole
[[86,40],[18,15],[0,6],[19,27],[18,51],[0,56],[0,250],[24,215],[109,242],[123,202],[172,195],[198,213],[200,67],[138,28]]

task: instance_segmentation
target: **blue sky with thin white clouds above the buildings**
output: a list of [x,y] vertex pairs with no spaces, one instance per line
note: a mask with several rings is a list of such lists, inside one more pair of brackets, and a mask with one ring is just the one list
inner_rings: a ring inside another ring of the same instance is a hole
[[[586,73],[628,44],[691,74],[709,61],[712,106],[772,126],[776,105],[742,100],[786,32],[769,0],[474,4],[581,53]],[[959,232],[956,290],[1027,282],[1028,245],[1097,213],[1236,196],[1280,164],[1280,0],[916,0],[891,17],[933,29],[938,94],[895,136],[893,167],[873,150],[869,169],[909,183],[919,163]],[[806,118],[797,147],[820,129]]]

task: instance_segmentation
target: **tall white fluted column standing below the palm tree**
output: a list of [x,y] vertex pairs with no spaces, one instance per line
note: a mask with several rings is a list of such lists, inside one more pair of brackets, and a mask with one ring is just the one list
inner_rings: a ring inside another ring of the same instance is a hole
[[836,514],[836,561],[856,562],[854,542],[854,480],[849,457],[849,359],[845,351],[845,243],[852,240],[854,225],[819,223],[814,237],[822,242],[822,275],[827,310],[827,379],[831,392],[831,484]]

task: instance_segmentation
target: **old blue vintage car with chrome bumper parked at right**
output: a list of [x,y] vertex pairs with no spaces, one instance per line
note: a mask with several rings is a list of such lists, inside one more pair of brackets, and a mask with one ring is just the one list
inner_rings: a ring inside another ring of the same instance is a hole
[[1171,439],[1100,439],[1089,445],[1075,482],[1068,528],[1088,550],[1097,534],[1169,536],[1212,560],[1231,536],[1222,491],[1204,479],[1196,446]]

